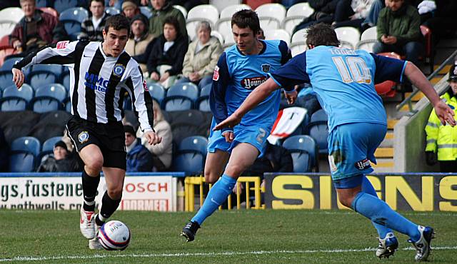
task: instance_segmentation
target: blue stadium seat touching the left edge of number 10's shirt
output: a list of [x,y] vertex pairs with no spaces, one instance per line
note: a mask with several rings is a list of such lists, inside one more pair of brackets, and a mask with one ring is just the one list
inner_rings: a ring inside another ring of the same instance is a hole
[[323,109],[313,113],[311,121],[306,126],[306,134],[316,140],[320,154],[328,153],[327,114]]

